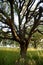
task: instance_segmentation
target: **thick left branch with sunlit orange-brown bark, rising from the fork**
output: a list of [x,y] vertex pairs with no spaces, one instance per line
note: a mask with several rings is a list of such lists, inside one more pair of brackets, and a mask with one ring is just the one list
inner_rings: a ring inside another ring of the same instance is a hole
[[11,19],[9,19],[9,20],[4,19],[4,21],[10,27],[14,39],[16,39],[17,41],[20,41],[20,39],[19,39],[19,37],[18,37],[18,35],[17,35],[16,31],[15,31],[15,26],[14,26],[14,23],[12,22],[12,20]]

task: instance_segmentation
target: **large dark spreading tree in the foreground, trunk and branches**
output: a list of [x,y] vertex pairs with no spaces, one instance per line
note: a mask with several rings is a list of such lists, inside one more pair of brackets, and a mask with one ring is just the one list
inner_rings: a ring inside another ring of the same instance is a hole
[[[21,49],[20,55],[22,58],[26,57],[30,39],[37,31],[37,26],[43,21],[40,20],[43,8],[39,7],[39,4],[43,3],[43,0],[40,0],[35,8],[33,8],[35,2],[36,0],[1,0],[0,4],[0,22],[4,23],[4,26],[2,25],[1,28],[2,30],[7,29],[0,38],[19,42]],[[16,22],[15,14],[18,17]],[[27,31],[28,28],[30,28],[29,32]],[[39,33],[43,34],[41,31],[39,31]]]

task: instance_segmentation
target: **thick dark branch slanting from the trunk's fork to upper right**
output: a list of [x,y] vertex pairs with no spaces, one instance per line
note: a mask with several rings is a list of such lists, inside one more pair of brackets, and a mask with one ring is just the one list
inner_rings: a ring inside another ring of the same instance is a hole
[[[27,39],[27,42],[29,43],[29,40],[31,39],[31,36],[33,34],[33,31],[36,29],[36,27],[40,24],[40,18],[42,16],[42,10],[41,8],[39,8],[39,17],[38,19],[36,19],[37,16],[34,16],[34,24],[33,24],[33,27],[31,28],[30,32],[29,32],[29,36],[28,36],[28,39]],[[28,45],[27,43],[27,45]]]

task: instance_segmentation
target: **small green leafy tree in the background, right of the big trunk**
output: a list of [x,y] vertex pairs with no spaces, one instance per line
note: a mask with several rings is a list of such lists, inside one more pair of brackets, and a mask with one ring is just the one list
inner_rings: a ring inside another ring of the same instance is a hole
[[[36,32],[36,33],[34,33],[34,34],[32,35],[32,38],[31,38],[30,43],[32,44],[32,46],[33,46],[34,48],[38,48],[39,45],[41,44],[41,42],[40,42],[41,39],[43,39],[43,36],[42,36],[40,33]],[[42,44],[42,45],[43,45],[43,44]],[[40,47],[41,47],[41,45],[40,45]]]

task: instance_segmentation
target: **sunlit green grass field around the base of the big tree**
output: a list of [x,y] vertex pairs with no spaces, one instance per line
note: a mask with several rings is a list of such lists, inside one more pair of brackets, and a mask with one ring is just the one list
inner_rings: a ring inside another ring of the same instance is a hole
[[[17,48],[0,48],[0,65],[19,65],[19,51]],[[43,50],[28,49],[26,62],[28,65],[43,65]],[[23,65],[23,62],[20,61],[20,65]]]

